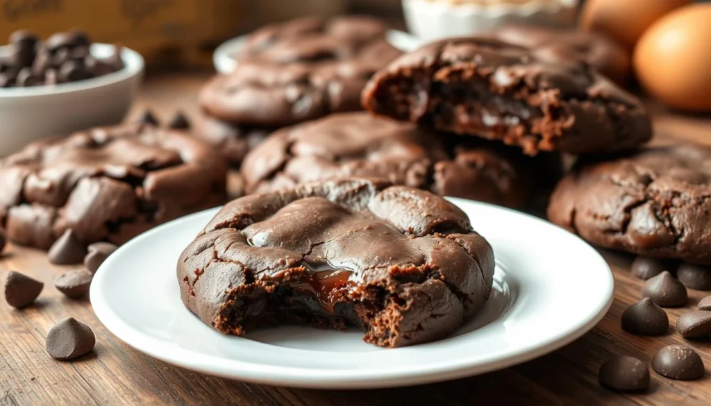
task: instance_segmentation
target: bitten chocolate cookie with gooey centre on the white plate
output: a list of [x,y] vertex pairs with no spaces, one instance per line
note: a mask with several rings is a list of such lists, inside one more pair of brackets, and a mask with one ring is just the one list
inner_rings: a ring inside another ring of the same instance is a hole
[[344,179],[245,196],[178,260],[188,309],[225,334],[358,326],[400,347],[448,336],[491,293],[491,246],[427,191]]

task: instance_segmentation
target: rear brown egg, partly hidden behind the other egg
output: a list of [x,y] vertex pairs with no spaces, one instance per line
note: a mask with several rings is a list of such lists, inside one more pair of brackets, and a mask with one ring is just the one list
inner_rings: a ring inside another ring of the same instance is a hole
[[588,0],[580,15],[580,28],[604,33],[633,50],[654,21],[690,3],[691,0]]

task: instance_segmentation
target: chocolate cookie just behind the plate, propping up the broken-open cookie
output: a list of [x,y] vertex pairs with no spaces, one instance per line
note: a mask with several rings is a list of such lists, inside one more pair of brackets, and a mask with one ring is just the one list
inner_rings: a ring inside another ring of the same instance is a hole
[[552,189],[560,159],[462,141],[367,112],[332,114],[271,134],[247,155],[242,176],[249,193],[365,176],[508,206],[530,203],[544,185]]

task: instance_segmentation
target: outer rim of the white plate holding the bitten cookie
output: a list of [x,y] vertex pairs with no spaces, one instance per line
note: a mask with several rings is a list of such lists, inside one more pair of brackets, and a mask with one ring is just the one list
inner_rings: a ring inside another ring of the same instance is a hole
[[[105,264],[102,265],[95,274],[95,280],[97,283],[92,283],[90,288],[90,301],[92,308],[94,309],[97,319],[99,319],[99,321],[109,332],[113,333],[114,336],[117,336],[117,338],[137,351],[145,353],[153,358],[163,360],[171,365],[195,370],[208,375],[242,380],[245,382],[264,385],[282,385],[291,388],[313,389],[395,388],[407,385],[442,382],[445,380],[454,380],[488,373],[494,370],[500,370],[513,365],[518,365],[528,360],[533,360],[534,358],[551,353],[558,348],[562,348],[563,346],[566,346],[567,344],[572,343],[572,341],[577,340],[577,338],[583,336],[584,333],[587,333],[604,318],[614,299],[614,277],[612,276],[609,265],[604,260],[602,255],[600,255],[599,252],[597,252],[597,250],[595,250],[587,242],[584,242],[584,240],[577,235],[573,235],[557,225],[553,225],[552,223],[533,215],[528,215],[527,213],[461,198],[448,197],[448,199],[454,201],[454,203],[461,201],[466,204],[473,203],[474,205],[485,205],[496,210],[506,211],[508,212],[508,215],[520,215],[536,222],[543,223],[543,225],[547,227],[556,228],[558,229],[557,232],[567,233],[567,237],[577,240],[578,243],[587,245],[587,248],[591,251],[591,254],[595,255],[596,260],[599,260],[601,265],[604,265],[608,271],[606,273],[606,282],[608,282],[606,283],[606,288],[608,292],[601,293],[601,303],[603,295],[606,295],[606,300],[604,300],[602,306],[599,306],[597,313],[594,314],[594,316],[589,317],[589,319],[582,324],[571,324],[573,327],[568,328],[565,331],[565,334],[557,334],[556,338],[550,338],[547,341],[543,341],[538,346],[535,346],[535,348],[516,348],[515,351],[507,353],[507,355],[502,358],[474,363],[473,365],[444,365],[444,367],[440,368],[437,368],[438,365],[434,365],[430,366],[426,370],[402,370],[397,375],[392,375],[392,371],[387,370],[390,372],[383,373],[382,376],[373,376],[372,370],[349,370],[347,374],[343,374],[340,371],[338,373],[336,373],[336,371],[324,372],[324,370],[296,368],[282,365],[264,365],[235,359],[230,359],[229,365],[225,365],[225,358],[221,358],[219,356],[198,353],[189,348],[173,348],[171,346],[166,346],[165,340],[151,336],[148,333],[144,333],[124,321],[121,316],[112,311],[108,301],[105,301],[102,297],[102,294],[100,293],[100,286],[102,286],[102,280],[105,278],[106,274],[104,269],[107,269],[112,262],[116,261],[119,255],[112,255],[112,257],[109,257]],[[172,220],[168,223],[164,223],[163,225],[159,225],[158,227],[153,228],[122,245],[122,247],[119,247],[117,250],[117,253],[120,253],[122,250],[128,250],[129,247],[134,244],[140,244],[142,240],[149,239],[151,235],[160,233],[164,228],[172,227],[174,224],[187,221],[189,218],[208,215],[208,213],[216,213],[218,209],[219,208],[203,210],[198,213],[193,213],[191,215],[186,215],[182,218]],[[191,358],[191,356],[197,356],[198,358]],[[220,363],[222,363],[222,365],[220,365]],[[335,376],[333,375],[334,373],[336,373]],[[339,373],[341,375],[339,375]]]

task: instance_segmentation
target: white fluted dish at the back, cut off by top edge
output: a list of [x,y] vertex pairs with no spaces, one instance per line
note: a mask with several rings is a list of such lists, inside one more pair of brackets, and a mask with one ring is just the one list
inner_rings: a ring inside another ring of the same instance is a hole
[[523,4],[452,4],[446,0],[402,0],[407,28],[425,40],[468,36],[515,23],[574,25],[577,0],[530,0]]

